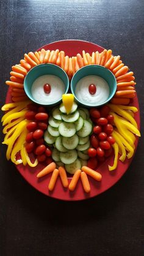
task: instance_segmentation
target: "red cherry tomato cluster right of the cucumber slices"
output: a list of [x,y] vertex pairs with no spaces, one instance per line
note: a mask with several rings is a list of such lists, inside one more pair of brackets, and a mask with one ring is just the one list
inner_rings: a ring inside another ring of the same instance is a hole
[[95,123],[93,134],[90,137],[91,148],[88,149],[88,167],[96,169],[98,162],[103,162],[112,154],[112,144],[115,139],[113,131],[113,115],[109,115],[110,108],[103,106],[101,109],[90,109],[90,117]]

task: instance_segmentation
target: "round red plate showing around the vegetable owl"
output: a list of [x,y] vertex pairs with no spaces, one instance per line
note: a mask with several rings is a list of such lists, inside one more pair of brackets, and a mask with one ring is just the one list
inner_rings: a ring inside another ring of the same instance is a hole
[[[65,54],[68,56],[76,56],[77,53],[82,53],[82,50],[84,49],[85,52],[92,54],[93,51],[103,51],[103,47],[95,45],[94,43],[86,42],[86,41],[80,41],[80,40],[63,40],[58,41],[54,43],[49,43],[49,45],[45,45],[42,48],[45,49],[59,49],[60,51],[65,51]],[[41,48],[40,48],[41,49]],[[38,49],[38,50],[40,50]],[[9,103],[11,101],[10,98],[10,91],[7,93],[6,103]],[[132,102],[132,106],[136,106],[139,109],[139,102],[137,97],[134,98]],[[139,112],[135,114],[135,120],[137,121],[138,127],[140,128],[140,115]],[[138,144],[138,137],[135,141],[135,149],[137,148]],[[131,159],[126,159],[124,163],[121,163],[121,161],[118,161],[118,167],[116,170],[109,172],[107,165],[113,164],[113,156],[108,158],[104,164],[101,164],[101,166],[98,168],[98,172],[100,172],[103,175],[102,181],[97,182],[93,180],[92,178],[88,177],[90,181],[90,194],[86,194],[84,192],[84,189],[82,188],[81,181],[79,180],[79,183],[77,184],[77,188],[74,192],[70,192],[68,189],[64,189],[62,186],[62,183],[60,181],[60,178],[58,178],[56,186],[54,188],[54,191],[49,192],[48,191],[48,184],[51,175],[46,175],[46,177],[43,177],[38,180],[37,173],[40,172],[41,169],[43,169],[43,166],[41,164],[38,164],[37,167],[31,168],[29,166],[24,167],[23,164],[20,164],[16,166],[20,174],[25,178],[29,184],[34,186],[35,189],[42,192],[43,194],[46,194],[46,196],[54,197],[56,199],[60,200],[84,200],[88,199],[94,196],[98,196],[98,194],[101,194],[102,192],[109,189],[111,186],[113,186],[115,183],[117,183],[118,180],[123,176],[123,174],[128,169],[129,165],[131,164]],[[71,179],[71,178],[69,178]]]

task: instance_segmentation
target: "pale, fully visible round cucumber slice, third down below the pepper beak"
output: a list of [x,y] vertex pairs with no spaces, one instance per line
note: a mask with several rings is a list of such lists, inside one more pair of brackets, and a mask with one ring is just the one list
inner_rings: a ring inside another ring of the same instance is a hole
[[76,133],[76,127],[73,123],[62,122],[59,125],[59,133],[63,137],[72,137]]

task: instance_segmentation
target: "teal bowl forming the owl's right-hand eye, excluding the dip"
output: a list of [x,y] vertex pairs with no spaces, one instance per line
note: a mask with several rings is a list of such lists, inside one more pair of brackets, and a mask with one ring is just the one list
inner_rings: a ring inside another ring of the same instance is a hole
[[[101,103],[95,102],[93,104],[90,104],[90,103],[88,104],[82,100],[81,101],[78,100],[76,97],[77,82],[79,82],[79,80],[84,78],[85,76],[91,76],[91,75],[100,76],[101,78],[106,80],[107,84],[109,85],[109,97],[104,101],[102,100]],[[71,79],[71,92],[73,93],[75,100],[77,101],[77,103],[87,108],[100,107],[108,103],[112,99],[116,90],[117,90],[117,80],[115,79],[115,76],[110,70],[108,70],[107,68],[101,65],[87,65],[85,67],[82,67],[74,74],[73,78]]]

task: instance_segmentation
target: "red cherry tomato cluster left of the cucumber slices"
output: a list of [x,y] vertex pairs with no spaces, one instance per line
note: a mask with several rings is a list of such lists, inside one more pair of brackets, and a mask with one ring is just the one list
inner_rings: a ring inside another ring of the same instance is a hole
[[25,118],[31,122],[27,124],[26,151],[37,156],[38,162],[52,162],[51,150],[44,145],[43,134],[48,128],[48,114],[43,106],[38,107],[35,104],[29,104],[29,111]]

